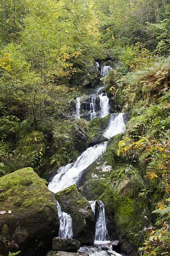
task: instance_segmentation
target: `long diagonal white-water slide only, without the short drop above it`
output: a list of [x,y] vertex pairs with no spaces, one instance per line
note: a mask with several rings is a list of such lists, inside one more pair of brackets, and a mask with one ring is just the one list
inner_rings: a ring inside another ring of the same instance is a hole
[[106,151],[106,147],[107,142],[89,147],[74,163],[68,163],[68,165],[60,167],[58,173],[48,185],[50,191],[56,193],[76,184],[82,171],[102,155]]

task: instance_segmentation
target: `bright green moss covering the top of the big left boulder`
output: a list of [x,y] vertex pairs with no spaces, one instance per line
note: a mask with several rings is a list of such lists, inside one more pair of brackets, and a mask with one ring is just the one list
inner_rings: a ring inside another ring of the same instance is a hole
[[39,209],[42,207],[42,202],[49,207],[55,207],[49,200],[51,192],[31,167],[1,177],[0,188],[0,206],[2,204],[4,209],[16,214],[27,210],[30,206],[32,209]]

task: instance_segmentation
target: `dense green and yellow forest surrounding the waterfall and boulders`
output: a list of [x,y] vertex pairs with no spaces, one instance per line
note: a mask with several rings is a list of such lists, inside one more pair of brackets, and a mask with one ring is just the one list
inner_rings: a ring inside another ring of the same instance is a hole
[[117,181],[138,169],[145,187],[133,200],[154,211],[143,242],[129,238],[139,255],[170,256],[169,35],[168,0],[0,1],[0,177],[32,167],[47,179],[75,161],[75,125],[95,133],[75,118],[75,99],[97,85],[94,61],[110,65],[98,83],[129,115],[116,144],[129,173]]

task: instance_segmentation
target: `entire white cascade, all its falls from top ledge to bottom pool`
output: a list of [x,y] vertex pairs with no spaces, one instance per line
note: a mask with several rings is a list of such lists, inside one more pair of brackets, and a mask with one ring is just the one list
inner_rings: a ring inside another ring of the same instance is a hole
[[[96,64],[98,68],[99,64]],[[110,66],[103,66],[101,69],[101,75],[106,75],[110,70],[112,70]],[[82,103],[79,97],[76,98],[75,118],[80,118],[81,110],[88,112],[88,120],[95,117],[105,117],[110,113],[109,99],[107,94],[103,92],[99,93],[100,89],[103,89],[103,87],[98,87],[95,89],[94,93],[89,95],[89,97]],[[123,121],[123,113],[115,113],[111,114],[108,127],[105,129],[105,131],[103,131],[103,136],[110,139],[112,136],[118,133],[123,133],[124,131],[125,124]],[[70,185],[76,184],[82,174],[82,171],[98,157],[100,157],[106,151],[106,148],[107,142],[89,147],[76,159],[74,163],[68,163],[66,166],[60,167],[58,173],[48,185],[50,191],[56,193],[69,187]],[[73,236],[72,219],[69,214],[62,212],[58,201],[56,201],[56,203],[60,221],[59,236],[71,238]],[[104,204],[102,201],[97,200],[89,201],[89,203],[96,219],[95,245],[109,243],[110,241],[107,241],[108,233],[105,224]],[[97,248],[92,246],[81,247],[79,251],[81,252],[81,250],[84,252],[84,255],[88,256],[121,256],[119,253],[112,251],[112,245],[108,245],[108,251],[103,251],[100,247]],[[86,253],[86,251],[88,251],[88,253]]]

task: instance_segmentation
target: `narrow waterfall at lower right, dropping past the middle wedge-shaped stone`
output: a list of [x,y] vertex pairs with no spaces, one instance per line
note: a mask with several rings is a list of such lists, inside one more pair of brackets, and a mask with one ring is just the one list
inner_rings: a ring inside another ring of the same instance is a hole
[[107,240],[108,233],[105,224],[104,204],[102,201],[88,201],[96,219],[95,244]]

